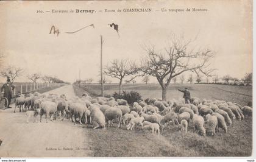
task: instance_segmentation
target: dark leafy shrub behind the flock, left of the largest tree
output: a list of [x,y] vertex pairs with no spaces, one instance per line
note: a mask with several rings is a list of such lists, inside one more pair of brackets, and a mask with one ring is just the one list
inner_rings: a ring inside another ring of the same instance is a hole
[[128,104],[133,104],[133,102],[140,102],[142,100],[140,93],[138,93],[137,91],[129,91],[129,92],[123,91],[123,93],[120,95],[115,92],[113,94],[113,97],[115,99],[127,100]]

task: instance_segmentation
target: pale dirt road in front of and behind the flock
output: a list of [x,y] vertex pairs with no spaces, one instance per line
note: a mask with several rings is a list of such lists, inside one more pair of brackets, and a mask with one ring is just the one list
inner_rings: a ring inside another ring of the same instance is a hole
[[[66,85],[47,93],[75,96],[73,86]],[[13,113],[14,105],[0,110],[0,157],[91,157],[88,132],[71,121],[45,122],[43,116],[27,124],[26,114]],[[79,150],[77,149],[79,148]]]

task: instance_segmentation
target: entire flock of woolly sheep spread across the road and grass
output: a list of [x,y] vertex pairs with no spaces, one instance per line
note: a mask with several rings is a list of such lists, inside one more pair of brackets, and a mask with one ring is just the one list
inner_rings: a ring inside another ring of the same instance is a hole
[[[92,124],[93,129],[112,127],[113,122],[121,127],[126,125],[127,130],[133,130],[135,126],[140,129],[150,129],[152,133],[160,135],[168,125],[179,125],[182,132],[187,132],[188,124],[199,135],[215,135],[219,129],[227,132],[227,127],[232,125],[235,119],[242,120],[244,116],[252,116],[251,107],[242,107],[239,104],[224,100],[206,100],[197,97],[191,98],[191,104],[185,104],[180,100],[151,99],[148,104],[144,101],[134,102],[128,105],[124,99],[113,97],[92,98],[88,94],[83,97],[66,99],[65,94],[21,94],[15,100],[16,107],[26,111],[27,122],[31,117],[39,114],[56,119],[62,116],[72,122],[80,124]],[[14,110],[14,112],[15,112]]]

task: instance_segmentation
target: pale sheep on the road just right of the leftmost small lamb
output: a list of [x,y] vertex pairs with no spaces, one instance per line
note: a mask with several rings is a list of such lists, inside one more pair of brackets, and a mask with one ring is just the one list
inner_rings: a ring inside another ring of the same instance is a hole
[[43,101],[40,105],[40,122],[43,114],[45,114],[46,122],[48,122],[47,121],[48,115],[52,121],[51,114],[55,114],[56,112],[57,112],[57,104],[55,102],[52,102],[49,100]]

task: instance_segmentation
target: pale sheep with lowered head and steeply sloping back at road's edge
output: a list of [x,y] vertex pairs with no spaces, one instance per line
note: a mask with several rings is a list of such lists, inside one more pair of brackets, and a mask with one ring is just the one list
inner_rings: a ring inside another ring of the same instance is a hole
[[99,107],[96,105],[91,105],[88,109],[90,110],[93,129],[97,129],[99,127],[105,128],[105,116]]

